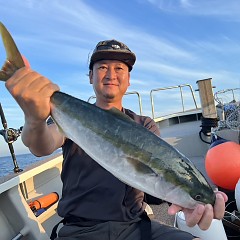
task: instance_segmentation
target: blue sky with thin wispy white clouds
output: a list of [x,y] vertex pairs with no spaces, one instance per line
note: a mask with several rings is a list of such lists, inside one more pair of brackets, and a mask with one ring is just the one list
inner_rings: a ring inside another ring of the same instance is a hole
[[[214,91],[240,87],[238,0],[0,0],[0,5],[0,21],[32,68],[83,100],[93,95],[87,77],[89,55],[106,39],[126,43],[137,55],[129,91],[141,94],[145,115],[151,116],[153,88],[188,83],[196,89],[197,80],[209,77]],[[175,92],[162,96],[159,114],[173,110],[179,101],[174,100]],[[22,111],[4,83],[0,102],[8,126],[22,126]],[[134,97],[124,104],[138,112]],[[20,139],[14,146],[17,154],[26,151]],[[1,138],[0,156],[7,153]]]

